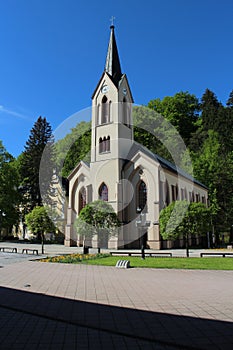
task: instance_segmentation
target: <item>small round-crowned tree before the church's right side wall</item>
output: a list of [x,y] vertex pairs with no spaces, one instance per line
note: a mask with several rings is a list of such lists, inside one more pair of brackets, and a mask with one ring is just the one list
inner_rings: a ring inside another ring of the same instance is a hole
[[163,239],[184,238],[189,257],[189,238],[204,235],[209,229],[209,209],[203,203],[172,202],[161,210],[159,225]]

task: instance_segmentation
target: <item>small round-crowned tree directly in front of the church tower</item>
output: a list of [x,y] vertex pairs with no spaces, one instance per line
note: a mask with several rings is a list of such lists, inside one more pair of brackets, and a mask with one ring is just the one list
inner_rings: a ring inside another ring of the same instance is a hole
[[75,220],[77,234],[85,240],[90,240],[97,235],[99,244],[109,239],[111,235],[117,233],[120,221],[112,206],[102,200],[88,203],[79,213]]

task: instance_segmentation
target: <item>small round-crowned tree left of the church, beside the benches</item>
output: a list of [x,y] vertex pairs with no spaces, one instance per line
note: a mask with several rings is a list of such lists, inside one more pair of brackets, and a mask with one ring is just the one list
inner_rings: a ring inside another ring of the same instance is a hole
[[44,254],[44,234],[55,232],[55,225],[48,215],[45,207],[35,207],[25,216],[25,222],[33,234],[41,239],[42,254]]

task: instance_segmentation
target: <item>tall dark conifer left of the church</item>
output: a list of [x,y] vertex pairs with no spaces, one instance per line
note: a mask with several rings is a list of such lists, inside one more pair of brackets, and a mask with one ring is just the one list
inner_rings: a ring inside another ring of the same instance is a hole
[[[47,193],[53,174],[53,144],[52,129],[46,118],[39,117],[33,128],[25,150],[20,159],[20,174],[22,192],[27,197],[29,209],[42,205],[41,191]],[[46,147],[46,166],[41,170],[40,162]]]

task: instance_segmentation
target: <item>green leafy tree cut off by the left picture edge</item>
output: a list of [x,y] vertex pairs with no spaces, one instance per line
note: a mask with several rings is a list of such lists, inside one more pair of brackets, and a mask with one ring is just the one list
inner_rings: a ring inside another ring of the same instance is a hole
[[20,195],[17,191],[19,176],[14,158],[6,151],[0,141],[0,215],[1,229],[10,231],[19,218],[17,205]]

